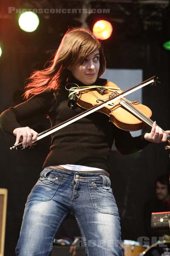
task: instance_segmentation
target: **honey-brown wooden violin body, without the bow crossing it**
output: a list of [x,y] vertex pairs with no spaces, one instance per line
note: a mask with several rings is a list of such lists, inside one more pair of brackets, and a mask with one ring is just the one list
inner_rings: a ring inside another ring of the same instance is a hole
[[[90,109],[100,102],[106,102],[109,98],[118,96],[119,93],[122,93],[122,90],[116,84],[108,81],[102,87],[102,90],[96,90],[96,88],[83,90],[80,96],[77,93],[77,105]],[[139,104],[137,101],[130,102],[125,97],[106,105],[99,109],[98,112],[108,115],[110,117],[109,120],[114,125],[125,131],[144,129],[149,119],[148,117],[152,115],[150,108]]]

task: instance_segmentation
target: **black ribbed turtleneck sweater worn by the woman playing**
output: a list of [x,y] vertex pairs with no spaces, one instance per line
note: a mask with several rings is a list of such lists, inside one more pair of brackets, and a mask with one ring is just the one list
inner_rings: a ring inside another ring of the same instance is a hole
[[[70,82],[70,81],[69,81]],[[72,82],[82,84],[72,79]],[[105,84],[107,80],[97,79],[94,84]],[[57,125],[84,110],[77,105],[68,108],[68,92],[54,98],[53,92],[44,92],[26,102],[8,108],[0,115],[0,127],[8,134],[21,127],[20,122],[40,114],[48,114],[51,126]],[[52,134],[50,153],[43,168],[47,166],[75,164],[96,167],[108,171],[108,158],[115,140],[116,148],[122,154],[130,154],[144,148],[148,142],[142,137],[132,137],[109,122],[103,113],[92,113]]]

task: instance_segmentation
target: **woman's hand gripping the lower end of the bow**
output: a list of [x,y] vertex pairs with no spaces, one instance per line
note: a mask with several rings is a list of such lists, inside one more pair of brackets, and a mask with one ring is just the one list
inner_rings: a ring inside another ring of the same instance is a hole
[[23,148],[28,147],[28,145],[37,140],[38,137],[38,133],[28,126],[14,129],[13,134],[16,136],[16,142],[14,145],[17,145],[22,141]]

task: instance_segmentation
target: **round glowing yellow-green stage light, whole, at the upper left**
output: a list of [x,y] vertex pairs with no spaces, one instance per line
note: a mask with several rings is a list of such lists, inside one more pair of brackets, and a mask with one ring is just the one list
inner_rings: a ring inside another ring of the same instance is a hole
[[18,20],[20,29],[26,32],[33,32],[39,25],[39,17],[34,12],[24,12]]

